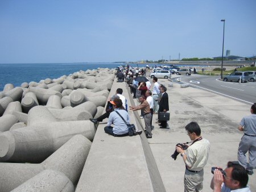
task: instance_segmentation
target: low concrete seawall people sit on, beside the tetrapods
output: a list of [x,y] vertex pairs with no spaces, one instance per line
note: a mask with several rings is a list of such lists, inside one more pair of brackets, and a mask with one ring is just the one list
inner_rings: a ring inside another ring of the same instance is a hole
[[[125,82],[114,81],[109,97],[123,89],[127,105],[134,103]],[[128,111],[130,123],[143,130],[138,112]],[[108,119],[100,123],[76,191],[166,191],[144,135],[113,137],[104,132]]]

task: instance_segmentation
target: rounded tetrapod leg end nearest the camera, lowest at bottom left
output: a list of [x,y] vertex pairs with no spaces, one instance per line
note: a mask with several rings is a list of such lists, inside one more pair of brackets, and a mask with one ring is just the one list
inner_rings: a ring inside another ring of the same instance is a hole
[[75,191],[75,187],[63,173],[57,172],[56,170],[43,170],[43,172],[32,177],[11,192],[20,191],[72,192]]

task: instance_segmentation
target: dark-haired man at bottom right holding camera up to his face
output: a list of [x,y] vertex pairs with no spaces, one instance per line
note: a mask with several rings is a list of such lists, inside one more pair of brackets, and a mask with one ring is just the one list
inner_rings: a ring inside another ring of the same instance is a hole
[[250,192],[247,186],[248,174],[242,165],[229,161],[224,171],[217,167],[213,173],[214,176],[210,182],[213,192]]

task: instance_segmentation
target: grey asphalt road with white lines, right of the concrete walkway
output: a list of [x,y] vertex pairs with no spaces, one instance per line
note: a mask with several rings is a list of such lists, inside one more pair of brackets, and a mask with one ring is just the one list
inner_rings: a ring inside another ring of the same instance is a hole
[[[177,81],[180,76],[172,75],[172,80]],[[232,99],[245,103],[256,102],[256,82],[238,82],[219,81],[217,76],[181,76],[181,82],[186,82],[200,89],[212,91]]]

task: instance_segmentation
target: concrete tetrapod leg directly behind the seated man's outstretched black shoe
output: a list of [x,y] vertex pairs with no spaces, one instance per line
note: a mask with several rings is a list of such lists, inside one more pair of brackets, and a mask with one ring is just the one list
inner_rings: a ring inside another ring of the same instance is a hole
[[89,120],[97,112],[97,107],[93,102],[87,101],[71,109],[48,108],[52,115],[59,121],[69,120]]

